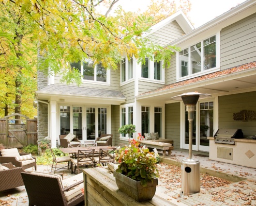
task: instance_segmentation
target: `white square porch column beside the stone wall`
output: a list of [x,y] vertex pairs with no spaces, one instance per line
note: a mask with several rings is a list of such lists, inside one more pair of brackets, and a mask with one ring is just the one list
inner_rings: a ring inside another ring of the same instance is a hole
[[52,148],[56,147],[56,136],[57,136],[57,102],[56,101],[50,101],[50,139],[52,141]]

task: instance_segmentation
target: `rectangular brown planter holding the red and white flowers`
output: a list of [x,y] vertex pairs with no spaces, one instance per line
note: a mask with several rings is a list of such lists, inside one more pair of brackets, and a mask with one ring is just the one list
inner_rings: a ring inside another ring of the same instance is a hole
[[157,178],[153,179],[153,182],[147,182],[147,186],[142,186],[140,181],[135,181],[121,173],[116,173],[116,171],[114,171],[114,177],[119,190],[136,201],[150,200],[156,193]]

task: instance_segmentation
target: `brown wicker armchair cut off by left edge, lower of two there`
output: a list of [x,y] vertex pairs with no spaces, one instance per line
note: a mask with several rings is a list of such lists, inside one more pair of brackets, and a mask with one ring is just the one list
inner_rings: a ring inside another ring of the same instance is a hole
[[21,172],[24,172],[24,170],[21,167],[15,167],[11,163],[1,165],[9,169],[0,171],[0,191],[24,185],[21,177]]

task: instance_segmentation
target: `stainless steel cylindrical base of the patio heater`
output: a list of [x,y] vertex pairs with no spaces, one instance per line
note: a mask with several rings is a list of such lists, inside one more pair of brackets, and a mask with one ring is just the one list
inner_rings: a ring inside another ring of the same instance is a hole
[[182,160],[182,195],[200,192],[200,162],[194,159]]

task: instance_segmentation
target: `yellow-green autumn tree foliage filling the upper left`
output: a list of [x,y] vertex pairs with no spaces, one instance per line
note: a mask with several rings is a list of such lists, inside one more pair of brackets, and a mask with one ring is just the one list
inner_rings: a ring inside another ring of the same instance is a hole
[[[176,11],[174,1],[152,1],[140,14],[118,7],[110,15],[118,1],[0,0],[1,75],[12,75],[1,82],[1,87],[6,87],[1,94],[2,107],[13,104],[20,112],[23,92],[28,91],[24,82],[36,81],[36,68],[46,74],[62,73],[63,81],[80,84],[80,73],[71,68],[70,62],[89,58],[105,68],[116,69],[126,54],[139,61],[149,57],[168,63],[176,48],[153,45],[142,37],[150,26]],[[107,7],[104,14],[96,10],[101,4]],[[189,0],[182,5],[189,9]],[[9,90],[10,85],[15,91]],[[34,83],[28,88],[36,90]],[[12,95],[15,98],[11,100]]]

